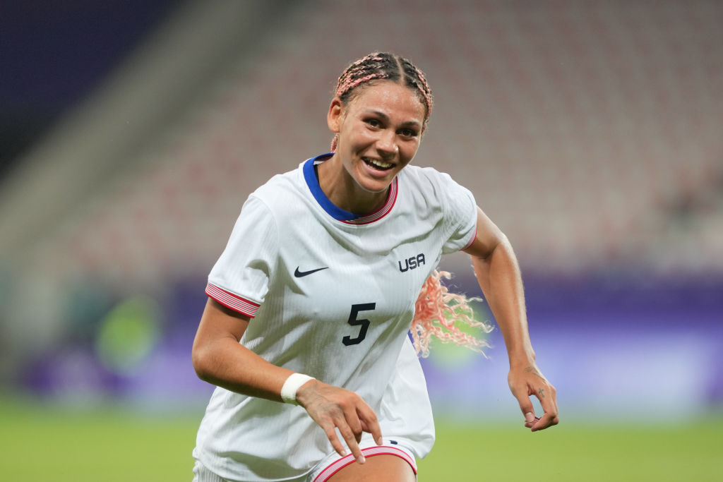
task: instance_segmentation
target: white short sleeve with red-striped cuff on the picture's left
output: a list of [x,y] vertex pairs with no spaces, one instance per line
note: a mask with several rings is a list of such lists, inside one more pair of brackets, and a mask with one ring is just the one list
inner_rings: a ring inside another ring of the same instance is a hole
[[255,317],[268,292],[278,254],[278,230],[267,205],[253,194],[241,208],[226,249],[208,275],[206,294]]

